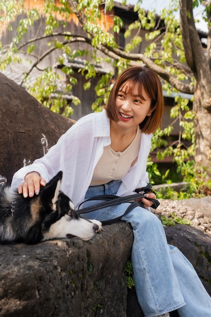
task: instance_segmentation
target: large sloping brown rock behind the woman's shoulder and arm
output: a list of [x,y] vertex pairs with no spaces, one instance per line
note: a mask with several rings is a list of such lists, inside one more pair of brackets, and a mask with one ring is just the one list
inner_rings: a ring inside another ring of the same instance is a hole
[[11,182],[17,170],[43,156],[73,123],[0,73],[0,174]]

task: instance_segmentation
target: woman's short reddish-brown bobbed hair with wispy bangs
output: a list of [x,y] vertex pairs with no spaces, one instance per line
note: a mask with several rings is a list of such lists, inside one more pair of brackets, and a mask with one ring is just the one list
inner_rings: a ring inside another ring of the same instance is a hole
[[115,81],[110,92],[108,102],[106,104],[106,112],[110,120],[119,121],[116,109],[116,96],[123,84],[129,83],[131,89],[129,93],[133,94],[133,89],[136,84],[140,86],[140,96],[142,88],[145,90],[148,97],[151,99],[150,108],[154,108],[150,116],[146,116],[144,121],[139,124],[143,133],[154,133],[161,123],[164,101],[162,94],[162,86],[158,75],[147,67],[133,66],[125,69]]

